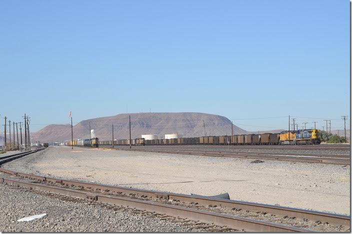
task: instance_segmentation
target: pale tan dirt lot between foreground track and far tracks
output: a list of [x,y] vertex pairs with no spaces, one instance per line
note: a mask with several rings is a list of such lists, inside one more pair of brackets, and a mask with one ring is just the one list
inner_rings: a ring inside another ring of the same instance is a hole
[[3,167],[177,193],[350,214],[349,165],[49,147]]

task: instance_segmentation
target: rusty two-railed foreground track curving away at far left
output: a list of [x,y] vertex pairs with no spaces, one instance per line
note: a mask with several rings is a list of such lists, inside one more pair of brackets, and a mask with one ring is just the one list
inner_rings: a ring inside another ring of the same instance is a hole
[[[41,150],[41,149],[38,149]],[[38,151],[32,150],[32,152]],[[30,153],[32,153],[30,152]],[[28,152],[22,154],[28,155]],[[8,161],[18,158],[19,155],[9,155],[13,157],[0,158]],[[89,183],[76,180],[51,178],[34,174],[20,173],[3,169],[0,171],[7,173],[13,178],[3,177],[0,182],[25,187],[34,190],[56,193],[60,195],[72,196],[90,200],[91,202],[101,202],[110,205],[124,206],[138,210],[156,212],[172,217],[187,218],[198,223],[208,225],[225,226],[225,230],[244,230],[262,232],[287,232],[287,231],[312,231],[302,226],[282,225],[265,220],[257,220],[236,215],[232,212],[245,211],[249,213],[272,214],[279,219],[296,219],[313,223],[329,223],[342,228],[342,231],[349,230],[350,216],[332,213],[317,212],[304,209],[289,208],[283,206],[266,205],[237,200],[219,199],[199,195],[186,195],[169,192],[159,192],[121,186],[111,186],[98,183]],[[16,177],[14,177],[16,176]],[[216,210],[218,209],[218,210]],[[224,211],[225,210],[225,211]],[[318,230],[321,231],[321,230]]]

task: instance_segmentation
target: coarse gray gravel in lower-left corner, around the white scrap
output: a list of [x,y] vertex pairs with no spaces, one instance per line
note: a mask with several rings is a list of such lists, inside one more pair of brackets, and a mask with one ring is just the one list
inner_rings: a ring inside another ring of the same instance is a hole
[[[2,232],[98,232],[98,231],[197,231],[170,220],[150,214],[133,212],[131,209],[114,210],[100,204],[60,197],[49,197],[39,192],[0,183],[0,231]],[[53,196],[53,195],[51,195]],[[27,222],[17,219],[46,213],[47,215]]]

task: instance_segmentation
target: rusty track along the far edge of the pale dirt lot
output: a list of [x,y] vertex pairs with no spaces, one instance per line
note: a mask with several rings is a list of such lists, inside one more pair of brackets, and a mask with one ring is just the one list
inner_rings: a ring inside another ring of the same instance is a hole
[[[100,148],[111,148],[110,145],[102,145]],[[115,146],[114,149],[133,150],[142,152],[159,152],[159,153],[175,153],[175,154],[189,154],[213,157],[237,157],[249,159],[270,159],[270,160],[285,160],[285,161],[299,161],[299,162],[318,162],[329,164],[349,164],[350,155],[338,154],[308,154],[308,153],[269,153],[269,152],[241,152],[241,151],[205,151],[205,150],[186,150],[181,148],[148,148],[143,146],[134,146],[132,149],[124,146]]]

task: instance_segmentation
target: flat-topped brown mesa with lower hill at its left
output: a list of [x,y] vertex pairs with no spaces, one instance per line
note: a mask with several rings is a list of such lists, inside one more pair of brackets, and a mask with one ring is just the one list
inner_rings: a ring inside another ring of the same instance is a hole
[[[204,126],[206,135],[231,134],[231,121],[224,116],[195,112],[149,112],[82,120],[73,126],[73,139],[89,138],[89,123],[90,128],[95,131],[95,136],[101,140],[112,139],[112,124],[115,139],[129,138],[129,115],[132,138],[140,137],[141,134],[157,134],[159,138],[163,138],[164,134],[170,133],[178,133],[182,137],[203,136]],[[250,133],[236,125],[233,125],[233,131],[234,134]],[[31,136],[40,142],[70,140],[71,126],[70,124],[50,124],[31,133]]]

